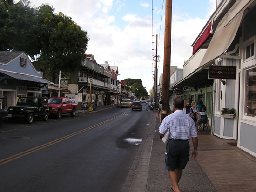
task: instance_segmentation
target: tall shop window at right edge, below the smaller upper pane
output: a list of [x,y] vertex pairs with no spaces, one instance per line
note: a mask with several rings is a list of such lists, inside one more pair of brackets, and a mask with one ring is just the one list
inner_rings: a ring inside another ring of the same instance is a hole
[[245,71],[244,115],[256,117],[256,67]]

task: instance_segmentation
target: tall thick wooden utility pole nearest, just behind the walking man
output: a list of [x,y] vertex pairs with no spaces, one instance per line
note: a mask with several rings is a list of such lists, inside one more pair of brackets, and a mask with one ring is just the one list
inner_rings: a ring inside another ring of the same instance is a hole
[[172,0],[165,2],[165,30],[163,54],[163,83],[162,83],[162,111],[161,119],[168,115],[170,96],[170,69],[171,69],[171,33],[172,33]]

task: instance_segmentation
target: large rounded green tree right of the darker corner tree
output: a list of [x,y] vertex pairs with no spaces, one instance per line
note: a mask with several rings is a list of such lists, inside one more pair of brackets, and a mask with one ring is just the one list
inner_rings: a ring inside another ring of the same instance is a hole
[[81,64],[89,38],[87,31],[63,13],[54,14],[53,7],[48,4],[40,6],[37,11],[43,42],[38,60],[54,81],[59,70],[65,73]]

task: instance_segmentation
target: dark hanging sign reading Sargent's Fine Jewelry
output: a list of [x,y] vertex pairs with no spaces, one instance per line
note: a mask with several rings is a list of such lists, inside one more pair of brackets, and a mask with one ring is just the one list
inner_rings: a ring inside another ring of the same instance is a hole
[[209,79],[236,79],[236,66],[209,65]]

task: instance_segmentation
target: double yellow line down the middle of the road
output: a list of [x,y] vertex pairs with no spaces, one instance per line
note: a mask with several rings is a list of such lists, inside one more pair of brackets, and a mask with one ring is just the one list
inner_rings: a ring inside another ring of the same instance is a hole
[[[128,111],[128,110],[127,110],[127,111]],[[125,112],[122,113],[121,115],[115,116],[115,117],[113,117],[113,118],[111,118],[111,119],[108,119],[108,120],[105,120],[105,121],[102,121],[101,123],[95,124],[95,125],[93,125],[93,126],[89,126],[89,127],[85,128],[85,129],[82,129],[82,130],[80,130],[80,131],[78,131],[78,132],[74,132],[74,133],[72,133],[72,134],[66,135],[66,136],[61,137],[61,138],[59,138],[59,139],[55,139],[55,140],[53,140],[53,141],[50,141],[50,142],[48,142],[48,143],[45,143],[45,144],[43,144],[43,145],[36,146],[36,147],[34,147],[34,148],[28,149],[27,151],[17,153],[17,154],[15,154],[15,155],[12,155],[12,156],[7,157],[7,158],[5,158],[5,159],[1,159],[1,160],[0,160],[0,166],[1,166],[1,165],[4,165],[4,164],[6,164],[6,163],[9,163],[9,162],[11,162],[11,161],[13,161],[13,160],[15,160],[15,159],[19,159],[19,158],[21,158],[21,157],[23,157],[23,156],[25,156],[25,155],[30,154],[30,153],[39,151],[40,149],[46,148],[46,147],[48,147],[48,146],[52,146],[52,145],[54,145],[54,144],[56,144],[56,143],[59,143],[59,142],[61,142],[61,141],[63,141],[63,140],[66,140],[66,139],[68,139],[68,138],[74,137],[75,135],[81,134],[82,132],[86,132],[86,131],[88,131],[88,130],[90,130],[90,129],[93,129],[93,128],[95,128],[95,127],[97,127],[97,126],[100,126],[100,125],[102,125],[102,124],[104,124],[104,123],[107,123],[107,122],[109,122],[109,121],[111,121],[111,120],[114,120],[114,119],[116,119],[116,118],[119,118],[119,117],[123,116],[125,113],[127,113],[127,111],[125,111]]]

